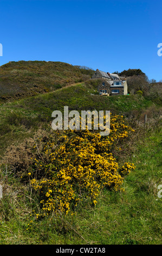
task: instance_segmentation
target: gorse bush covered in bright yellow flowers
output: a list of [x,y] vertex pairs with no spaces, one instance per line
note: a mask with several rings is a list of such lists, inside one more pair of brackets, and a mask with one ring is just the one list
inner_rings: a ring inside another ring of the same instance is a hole
[[109,136],[87,129],[66,130],[37,141],[34,148],[43,144],[42,150],[28,175],[44,213],[59,210],[73,214],[83,199],[95,205],[102,188],[119,191],[122,174],[128,174],[134,165],[125,163],[119,168],[111,151],[120,150],[119,144],[131,131],[122,116],[114,115]]

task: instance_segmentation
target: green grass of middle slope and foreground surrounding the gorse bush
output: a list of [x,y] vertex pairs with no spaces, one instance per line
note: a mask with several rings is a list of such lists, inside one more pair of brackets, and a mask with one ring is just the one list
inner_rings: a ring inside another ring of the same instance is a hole
[[[59,88],[25,99],[3,103],[0,107],[1,150],[47,129],[54,110],[111,110],[128,119],[140,121],[138,139],[125,145],[120,156],[135,164],[136,169],[124,181],[125,192],[102,191],[98,204],[80,205],[76,216],[53,215],[35,221],[31,209],[39,210],[36,194],[29,184],[22,184],[14,170],[0,171],[3,198],[0,199],[1,244],[160,244],[161,198],[157,186],[161,177],[161,130],[152,117],[159,113],[151,100],[142,96],[101,97],[96,87],[86,83]],[[94,94],[94,95],[92,95]],[[154,129],[143,125],[144,114],[153,120]],[[153,113],[153,114],[152,114]],[[144,130],[146,130],[144,132]],[[145,134],[145,136],[143,136]],[[132,144],[131,150],[129,145]],[[31,222],[33,221],[33,223]],[[30,229],[27,230],[30,223]]]

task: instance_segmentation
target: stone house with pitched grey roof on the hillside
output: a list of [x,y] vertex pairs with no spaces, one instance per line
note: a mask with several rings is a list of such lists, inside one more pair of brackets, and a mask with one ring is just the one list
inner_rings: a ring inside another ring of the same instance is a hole
[[119,77],[117,74],[96,70],[93,78],[101,78],[98,85],[100,95],[127,95],[127,81],[125,77]]

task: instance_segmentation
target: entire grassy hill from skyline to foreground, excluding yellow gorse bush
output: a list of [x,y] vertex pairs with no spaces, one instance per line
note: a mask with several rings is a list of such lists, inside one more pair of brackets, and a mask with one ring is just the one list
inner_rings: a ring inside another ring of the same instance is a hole
[[[141,95],[100,96],[97,81],[88,80],[90,72],[60,62],[12,62],[1,66],[0,155],[1,163],[9,161],[0,167],[1,244],[161,243],[161,198],[157,196],[162,178],[161,106]],[[69,111],[110,110],[124,115],[135,132],[114,154],[119,164],[128,161],[136,168],[124,179],[125,192],[105,189],[98,204],[83,202],[76,215],[51,214],[35,220],[31,213],[40,211],[37,194],[29,180],[21,180],[13,162],[21,166],[24,161],[23,168],[28,172],[33,151],[30,145],[36,136],[48,139],[51,113],[63,111],[64,106],[69,106]],[[27,230],[29,223],[31,228]]]

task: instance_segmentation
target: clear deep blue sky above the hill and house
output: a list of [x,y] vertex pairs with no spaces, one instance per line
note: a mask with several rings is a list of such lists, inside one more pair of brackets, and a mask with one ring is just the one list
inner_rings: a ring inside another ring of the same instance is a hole
[[0,65],[51,60],[162,80],[161,0],[1,0]]

